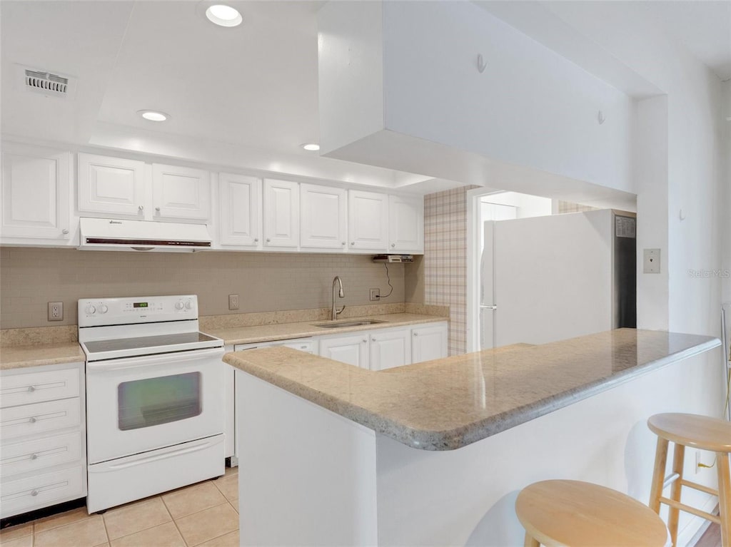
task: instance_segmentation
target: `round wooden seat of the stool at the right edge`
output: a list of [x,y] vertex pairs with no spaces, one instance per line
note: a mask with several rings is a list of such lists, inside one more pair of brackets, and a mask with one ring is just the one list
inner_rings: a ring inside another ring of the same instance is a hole
[[667,413],[650,416],[648,427],[658,437],[701,450],[731,452],[731,422],[711,416]]

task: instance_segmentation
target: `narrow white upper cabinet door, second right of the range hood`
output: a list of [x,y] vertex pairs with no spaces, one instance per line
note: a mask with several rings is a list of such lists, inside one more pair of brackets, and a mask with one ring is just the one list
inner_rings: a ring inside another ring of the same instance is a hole
[[300,244],[300,185],[289,180],[264,181],[264,246]]

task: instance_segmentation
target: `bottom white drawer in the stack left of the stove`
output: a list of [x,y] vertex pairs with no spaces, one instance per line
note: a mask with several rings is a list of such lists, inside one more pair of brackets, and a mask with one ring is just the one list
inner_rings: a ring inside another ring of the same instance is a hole
[[83,481],[85,471],[81,465],[77,465],[20,481],[2,483],[0,517],[5,518],[83,497],[86,494]]

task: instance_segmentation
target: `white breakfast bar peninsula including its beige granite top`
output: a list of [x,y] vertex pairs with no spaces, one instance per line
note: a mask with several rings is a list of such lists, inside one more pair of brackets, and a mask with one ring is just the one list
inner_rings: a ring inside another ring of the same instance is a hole
[[[646,502],[645,421],[719,413],[720,359],[700,355],[719,345],[618,329],[378,372],[289,348],[227,353],[241,545],[520,545],[515,497],[547,478]],[[718,382],[698,380],[713,366]]]

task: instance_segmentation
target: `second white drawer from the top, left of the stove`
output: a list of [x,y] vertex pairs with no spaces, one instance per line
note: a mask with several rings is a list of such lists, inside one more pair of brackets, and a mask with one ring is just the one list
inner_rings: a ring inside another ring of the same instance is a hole
[[4,439],[56,431],[81,423],[78,397],[0,409],[0,436]]

